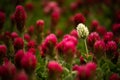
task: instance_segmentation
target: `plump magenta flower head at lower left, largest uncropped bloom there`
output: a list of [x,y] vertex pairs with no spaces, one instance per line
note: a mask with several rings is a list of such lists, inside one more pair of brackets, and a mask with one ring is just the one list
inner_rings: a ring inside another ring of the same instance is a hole
[[31,74],[35,70],[37,65],[36,56],[33,55],[31,52],[27,52],[21,60],[21,65],[27,73]]

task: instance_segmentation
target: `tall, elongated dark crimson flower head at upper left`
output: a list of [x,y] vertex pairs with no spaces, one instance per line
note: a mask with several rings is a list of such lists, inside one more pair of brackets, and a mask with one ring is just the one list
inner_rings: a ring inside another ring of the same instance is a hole
[[15,16],[15,22],[16,22],[18,31],[20,32],[23,31],[23,28],[25,26],[25,21],[27,18],[27,14],[21,5],[18,5],[16,7],[14,16]]

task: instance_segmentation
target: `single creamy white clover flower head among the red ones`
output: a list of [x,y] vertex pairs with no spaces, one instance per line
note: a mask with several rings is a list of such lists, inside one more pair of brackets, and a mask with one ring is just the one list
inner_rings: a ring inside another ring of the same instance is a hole
[[82,23],[77,25],[77,33],[78,36],[83,39],[87,38],[87,36],[89,35],[88,28]]

